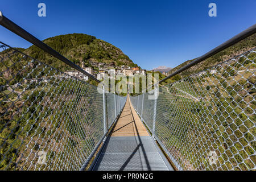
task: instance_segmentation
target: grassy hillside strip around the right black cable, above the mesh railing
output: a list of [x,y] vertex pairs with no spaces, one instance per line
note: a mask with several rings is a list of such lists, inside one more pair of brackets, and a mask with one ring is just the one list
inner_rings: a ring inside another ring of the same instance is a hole
[[[197,73],[197,72],[203,71],[204,69],[213,67],[214,65],[221,63],[222,61],[225,61],[234,56],[240,55],[241,53],[245,51],[249,51],[250,49],[253,49],[255,47],[256,47],[256,34],[253,34],[248,38],[243,39],[240,42],[234,44],[233,46],[226,48],[225,50],[217,53],[216,55],[209,57],[208,59],[202,61],[201,63],[196,64],[193,67],[181,72],[179,75],[182,77],[187,77],[189,75],[192,75],[193,73]],[[193,60],[195,59],[185,61],[184,63],[171,69],[169,74],[174,73],[175,71],[184,67],[185,65],[187,65]]]

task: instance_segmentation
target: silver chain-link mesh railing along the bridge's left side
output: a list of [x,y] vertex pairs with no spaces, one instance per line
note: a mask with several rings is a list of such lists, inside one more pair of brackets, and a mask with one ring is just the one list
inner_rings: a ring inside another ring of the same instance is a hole
[[125,105],[3,43],[0,68],[1,170],[81,169]]

